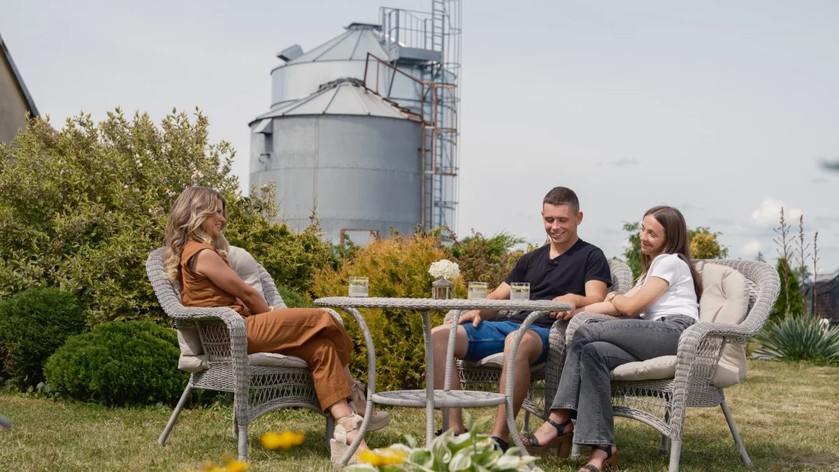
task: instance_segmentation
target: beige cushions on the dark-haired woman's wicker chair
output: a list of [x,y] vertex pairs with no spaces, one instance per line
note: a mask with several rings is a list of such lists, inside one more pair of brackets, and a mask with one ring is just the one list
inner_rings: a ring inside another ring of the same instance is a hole
[[[702,276],[702,298],[699,317],[702,322],[740,324],[748,314],[748,286],[743,274],[731,267],[697,263]],[[643,362],[630,362],[612,370],[613,380],[672,379],[676,356],[666,355]],[[746,353],[743,345],[728,344],[714,371],[711,385],[725,388],[746,378]]]

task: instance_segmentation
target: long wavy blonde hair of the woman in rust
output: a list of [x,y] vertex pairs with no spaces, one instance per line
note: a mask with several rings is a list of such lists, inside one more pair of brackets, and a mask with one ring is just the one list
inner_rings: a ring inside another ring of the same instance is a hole
[[[170,281],[180,281],[180,256],[190,239],[210,244],[222,257],[227,258],[230,244],[227,244],[224,234],[219,233],[218,238],[212,239],[210,234],[204,231],[204,222],[208,216],[216,212],[217,201],[221,201],[221,211],[227,220],[227,202],[221,197],[221,192],[214,188],[190,186],[181,192],[172,205],[169,220],[166,222],[166,254],[163,260],[163,270]],[[221,231],[224,231],[225,227],[227,222],[221,227]]]

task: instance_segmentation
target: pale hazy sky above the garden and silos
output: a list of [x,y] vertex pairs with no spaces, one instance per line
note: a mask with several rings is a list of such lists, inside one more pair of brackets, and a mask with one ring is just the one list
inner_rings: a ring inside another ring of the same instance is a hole
[[[270,106],[276,53],[311,50],[378,8],[430,0],[0,0],[0,34],[39,112],[195,107],[237,149]],[[819,232],[839,269],[839,2],[465,0],[458,233],[545,239],[554,186],[576,191],[582,239],[623,252],[623,223],[659,204],[721,232],[734,258],[777,257],[778,214]],[[809,263],[811,266],[811,262]]]

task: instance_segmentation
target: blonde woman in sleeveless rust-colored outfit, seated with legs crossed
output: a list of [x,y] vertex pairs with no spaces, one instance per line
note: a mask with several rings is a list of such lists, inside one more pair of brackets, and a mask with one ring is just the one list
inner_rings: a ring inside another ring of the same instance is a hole
[[[227,223],[227,208],[221,194],[211,188],[190,187],[180,194],[166,224],[164,270],[180,281],[185,307],[230,307],[245,320],[248,354],[280,353],[304,359],[314,380],[320,407],[337,419],[331,439],[333,462],[352,443],[365,402],[358,382],[352,378],[352,341],[329,312],[314,308],[268,307],[263,297],[248,286],[227,262],[227,239],[221,233]],[[348,403],[347,400],[354,401]],[[389,422],[377,412],[369,429]]]

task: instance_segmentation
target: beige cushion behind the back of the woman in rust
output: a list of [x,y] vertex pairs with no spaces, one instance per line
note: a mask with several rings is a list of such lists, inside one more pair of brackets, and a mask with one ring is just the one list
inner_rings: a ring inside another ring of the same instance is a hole
[[[245,281],[245,283],[249,286],[256,289],[260,295],[265,296],[262,281],[259,279],[258,263],[255,259],[253,259],[253,256],[248,253],[248,251],[242,248],[237,248],[236,246],[230,246],[230,249],[227,251],[227,261],[230,262],[231,268],[236,272],[236,275],[242,279],[242,281]],[[172,286],[175,288],[175,293],[180,298],[180,284],[178,282],[173,282]],[[206,355],[204,355],[204,349],[201,348],[201,338],[198,336],[197,328],[178,328],[178,344],[180,345],[178,369],[185,372],[195,373],[209,368],[209,365],[207,365]],[[303,364],[305,367],[305,362]]]

